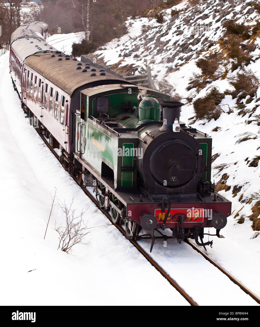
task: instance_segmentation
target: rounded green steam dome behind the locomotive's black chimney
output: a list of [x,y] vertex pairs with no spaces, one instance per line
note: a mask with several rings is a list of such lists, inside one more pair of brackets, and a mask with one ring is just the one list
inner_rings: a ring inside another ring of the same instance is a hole
[[161,107],[153,97],[144,98],[139,104],[138,123],[146,123],[151,120],[160,121]]

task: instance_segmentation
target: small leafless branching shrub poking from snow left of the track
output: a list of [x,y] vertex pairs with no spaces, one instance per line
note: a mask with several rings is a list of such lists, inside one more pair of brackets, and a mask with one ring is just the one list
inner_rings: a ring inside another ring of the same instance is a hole
[[[84,241],[84,237],[90,232],[91,228],[88,228],[83,221],[83,215],[85,211],[81,211],[79,215],[76,214],[76,209],[72,208],[74,199],[72,199],[69,206],[64,202],[62,203],[58,200],[58,204],[65,214],[65,226],[57,225],[55,221],[55,231],[59,233],[59,246],[58,249],[61,249],[64,252],[68,252],[76,244],[86,244],[89,242]],[[87,208],[88,209],[88,208]]]

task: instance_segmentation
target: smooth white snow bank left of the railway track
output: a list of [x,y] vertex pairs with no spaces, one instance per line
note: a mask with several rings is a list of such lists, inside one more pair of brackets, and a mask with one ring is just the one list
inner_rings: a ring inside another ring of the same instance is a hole
[[[189,305],[98,211],[34,128],[20,123],[25,118],[8,61],[9,52],[0,57],[1,229],[6,231],[0,304],[156,305],[163,292],[168,305]],[[55,187],[62,201],[74,197],[76,209],[88,208],[88,227],[98,226],[86,236],[90,245],[78,245],[71,254],[57,250],[53,227],[63,218],[57,204],[43,240]],[[160,288],[153,288],[152,297],[138,297],[130,291],[136,281],[144,290],[151,281]]]

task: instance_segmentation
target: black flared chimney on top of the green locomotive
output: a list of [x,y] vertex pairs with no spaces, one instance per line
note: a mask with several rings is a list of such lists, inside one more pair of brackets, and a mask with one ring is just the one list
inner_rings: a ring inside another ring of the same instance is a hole
[[184,103],[178,101],[166,101],[160,102],[160,105],[163,109],[164,124],[158,131],[172,131],[175,119],[177,119],[178,123],[180,121],[181,106],[183,106]]

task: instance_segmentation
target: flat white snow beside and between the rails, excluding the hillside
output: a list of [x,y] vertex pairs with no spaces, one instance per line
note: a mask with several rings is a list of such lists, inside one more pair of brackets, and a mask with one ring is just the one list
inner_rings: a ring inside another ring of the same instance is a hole
[[[167,305],[188,305],[175,289],[126,240],[63,170],[33,127],[26,124],[9,75],[9,53],[0,58],[0,179],[2,305],[158,305],[164,295]],[[57,250],[54,207],[46,238],[51,196],[74,207],[87,209],[85,221],[92,232],[87,245],[77,245],[71,254]],[[223,230],[225,239],[215,240],[210,250],[215,259],[260,295],[250,277],[259,270],[258,238],[240,237],[232,220]],[[241,227],[241,226],[239,226]],[[240,241],[237,241],[240,239]],[[139,241],[149,250],[150,242]],[[155,243],[152,257],[199,305],[256,305],[248,295],[210,265],[187,244],[168,240]],[[143,296],[136,296],[136,283]],[[152,289],[152,296],[146,291]],[[225,296],[223,296],[225,294]],[[161,303],[161,302],[160,302]]]

